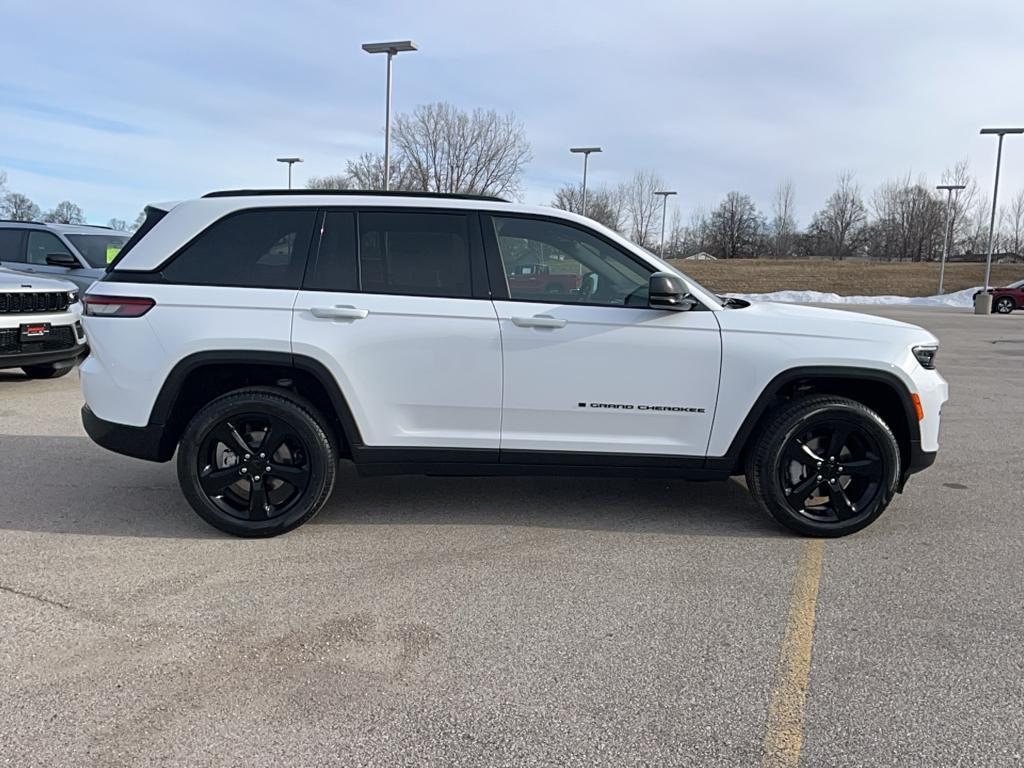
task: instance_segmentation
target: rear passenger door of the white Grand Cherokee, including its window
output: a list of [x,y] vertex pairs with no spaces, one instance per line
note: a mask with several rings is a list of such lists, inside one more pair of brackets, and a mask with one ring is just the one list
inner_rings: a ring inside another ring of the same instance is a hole
[[292,346],[337,379],[368,449],[356,446],[360,458],[497,454],[501,339],[475,213],[328,210]]

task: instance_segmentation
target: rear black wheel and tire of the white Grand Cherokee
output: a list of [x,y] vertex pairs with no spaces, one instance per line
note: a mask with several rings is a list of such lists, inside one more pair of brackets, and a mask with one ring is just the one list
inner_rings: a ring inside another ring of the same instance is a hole
[[322,424],[311,404],[284,390],[240,389],[218,397],[181,436],[181,492],[200,517],[224,532],[288,532],[319,512],[334,490],[337,452]]

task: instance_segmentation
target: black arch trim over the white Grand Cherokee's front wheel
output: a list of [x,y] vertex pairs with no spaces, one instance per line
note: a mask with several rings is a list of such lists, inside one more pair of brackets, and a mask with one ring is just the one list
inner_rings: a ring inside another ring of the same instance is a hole
[[909,461],[906,462],[907,467],[904,468],[904,472],[907,472],[910,467],[921,464],[921,460],[916,457],[916,454],[921,453],[921,427],[918,424],[918,410],[910,398],[910,390],[906,388],[902,379],[896,376],[896,374],[873,368],[804,366],[787,369],[777,374],[768,382],[761,391],[761,394],[758,395],[757,400],[754,401],[754,406],[748,412],[746,418],[743,419],[743,423],[739,426],[736,434],[733,435],[732,442],[729,444],[729,450],[725,453],[725,456],[708,457],[706,467],[709,469],[727,470],[731,474],[741,472],[742,466],[740,465],[743,451],[754,437],[754,430],[761,421],[761,418],[767,413],[779,392],[791,384],[811,379],[849,379],[851,381],[871,381],[887,385],[899,398],[903,416],[906,419],[907,434],[909,435],[909,444],[906,449],[909,454]]

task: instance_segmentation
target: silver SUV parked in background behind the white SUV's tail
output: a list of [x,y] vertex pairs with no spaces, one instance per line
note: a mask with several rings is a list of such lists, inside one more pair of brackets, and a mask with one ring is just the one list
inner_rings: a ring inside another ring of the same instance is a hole
[[0,266],[68,280],[84,291],[102,276],[128,238],[92,224],[0,221]]

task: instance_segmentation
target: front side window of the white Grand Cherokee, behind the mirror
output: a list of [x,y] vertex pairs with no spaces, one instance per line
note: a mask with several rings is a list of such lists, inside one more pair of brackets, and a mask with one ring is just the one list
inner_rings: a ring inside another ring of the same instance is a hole
[[511,299],[647,306],[650,272],[605,241],[544,219],[493,221]]

